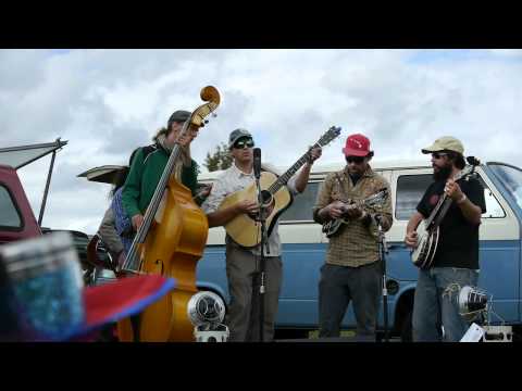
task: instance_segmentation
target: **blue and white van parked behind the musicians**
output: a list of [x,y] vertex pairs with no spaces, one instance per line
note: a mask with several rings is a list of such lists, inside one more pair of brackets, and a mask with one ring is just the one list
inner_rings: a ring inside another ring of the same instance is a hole
[[[276,320],[277,329],[308,331],[318,328],[318,283],[325,260],[327,238],[321,225],[312,220],[312,206],[321,182],[331,172],[344,165],[314,165],[306,191],[279,218],[283,242],[283,286]],[[391,185],[394,225],[386,234],[388,278],[388,327],[403,340],[411,338],[411,312],[418,268],[403,243],[406,226],[430,185],[433,168],[426,159],[421,162],[372,162],[372,168]],[[284,171],[284,169],[282,169]],[[477,166],[484,186],[487,212],[480,228],[478,287],[493,295],[493,311],[509,325],[521,324],[521,223],[522,169],[506,163],[487,162]],[[201,174],[208,184],[221,172]],[[203,257],[197,266],[197,283],[228,301],[225,273],[225,230],[211,228]],[[381,307],[382,308],[382,307]],[[492,324],[500,324],[493,316]],[[349,306],[344,328],[356,327]],[[383,329],[383,311],[378,328]]]

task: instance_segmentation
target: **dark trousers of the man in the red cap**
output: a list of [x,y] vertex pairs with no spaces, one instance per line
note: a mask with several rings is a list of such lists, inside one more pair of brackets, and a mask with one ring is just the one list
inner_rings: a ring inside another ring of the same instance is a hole
[[319,282],[319,337],[339,337],[350,301],[357,335],[375,336],[382,277],[381,262],[360,267],[324,264]]

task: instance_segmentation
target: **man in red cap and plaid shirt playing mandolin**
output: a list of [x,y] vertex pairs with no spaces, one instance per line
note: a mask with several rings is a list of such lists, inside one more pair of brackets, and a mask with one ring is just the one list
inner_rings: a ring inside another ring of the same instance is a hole
[[373,151],[363,135],[351,135],[343,149],[345,169],[330,174],[313,207],[320,224],[344,218],[346,224],[330,238],[326,263],[319,282],[319,336],[339,337],[346,310],[353,301],[357,335],[375,337],[375,323],[382,291],[377,222],[384,231],[391,227],[391,201],[375,207],[357,202],[387,189],[388,181],[370,167]]

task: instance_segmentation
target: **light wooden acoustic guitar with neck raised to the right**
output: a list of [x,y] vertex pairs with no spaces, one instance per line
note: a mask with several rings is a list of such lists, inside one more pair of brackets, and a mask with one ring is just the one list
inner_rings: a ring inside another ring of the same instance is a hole
[[[311,149],[324,147],[340,135],[340,127],[332,126]],[[293,202],[293,197],[285,185],[297,171],[309,160],[310,150],[304,153],[290,168],[282,176],[263,172],[260,177],[260,187],[262,195],[262,210],[266,211],[265,226],[270,236],[277,222],[277,218],[285,212]],[[243,200],[258,200],[258,189],[256,182],[246,189],[236,191],[227,195],[217,210],[223,210],[236,204]],[[261,223],[256,216],[240,214],[225,225],[226,232],[236,243],[244,248],[254,248],[261,242]]]

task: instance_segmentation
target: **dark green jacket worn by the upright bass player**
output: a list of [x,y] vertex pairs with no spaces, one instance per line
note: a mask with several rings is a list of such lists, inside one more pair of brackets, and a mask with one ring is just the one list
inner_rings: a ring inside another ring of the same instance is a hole
[[[167,161],[169,153],[158,144],[140,148],[136,152],[122,192],[123,207],[130,218],[145,214]],[[192,160],[190,167],[182,171],[182,184],[188,187],[194,195],[197,181],[198,164]]]

